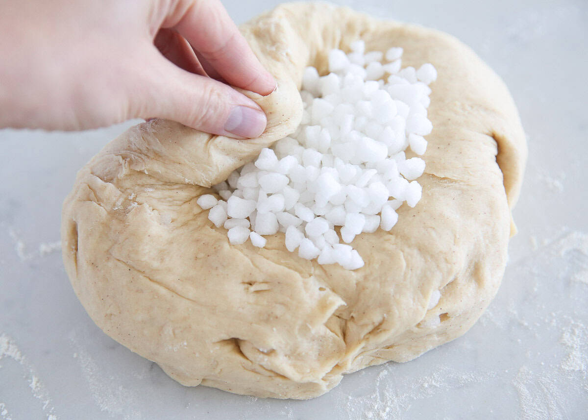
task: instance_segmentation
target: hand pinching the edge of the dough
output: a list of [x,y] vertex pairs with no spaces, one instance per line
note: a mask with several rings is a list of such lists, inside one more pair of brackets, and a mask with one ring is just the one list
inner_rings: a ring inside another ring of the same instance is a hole
[[4,0],[0,27],[0,127],[159,117],[235,138],[265,129],[229,85],[268,95],[275,81],[219,0]]

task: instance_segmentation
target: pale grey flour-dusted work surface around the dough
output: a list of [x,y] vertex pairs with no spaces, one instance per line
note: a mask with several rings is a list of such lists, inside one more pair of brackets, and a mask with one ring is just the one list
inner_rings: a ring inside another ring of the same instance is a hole
[[[238,22],[273,0],[228,0]],[[0,419],[584,419],[588,417],[586,0],[343,1],[472,46],[512,91],[529,163],[503,285],[462,338],[407,364],[278,401],[185,388],[112,341],[56,248],[76,171],[132,122],[0,131]]]

